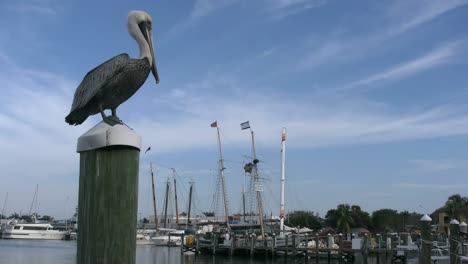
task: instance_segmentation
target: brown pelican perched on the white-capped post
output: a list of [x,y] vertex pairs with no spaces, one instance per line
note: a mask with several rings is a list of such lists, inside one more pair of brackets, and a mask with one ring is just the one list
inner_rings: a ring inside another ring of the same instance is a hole
[[[88,72],[76,89],[70,114],[65,117],[68,124],[79,125],[97,113],[111,126],[122,124],[116,114],[117,107],[143,85],[150,70],[159,83],[151,17],[143,11],[130,11],[127,25],[138,43],[140,57],[132,59],[128,54],[120,54]],[[111,116],[104,114],[106,109],[111,110]]]

